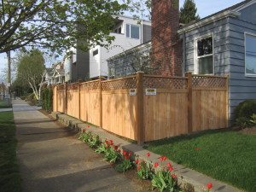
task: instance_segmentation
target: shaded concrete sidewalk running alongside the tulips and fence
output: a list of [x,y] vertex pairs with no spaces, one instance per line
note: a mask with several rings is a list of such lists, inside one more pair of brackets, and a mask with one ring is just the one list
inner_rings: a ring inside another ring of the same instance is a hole
[[37,108],[13,100],[17,158],[25,192],[140,191],[108,162],[81,143],[74,131]]

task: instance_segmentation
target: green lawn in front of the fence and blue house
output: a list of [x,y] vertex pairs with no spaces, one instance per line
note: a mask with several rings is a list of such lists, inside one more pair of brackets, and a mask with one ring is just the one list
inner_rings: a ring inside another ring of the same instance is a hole
[[256,135],[202,131],[151,142],[147,149],[239,189],[256,191]]

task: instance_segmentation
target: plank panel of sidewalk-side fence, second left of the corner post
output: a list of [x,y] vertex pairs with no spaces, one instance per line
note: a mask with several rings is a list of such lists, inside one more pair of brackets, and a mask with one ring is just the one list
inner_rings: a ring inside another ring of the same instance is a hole
[[100,91],[80,90],[80,118],[94,125],[100,125]]

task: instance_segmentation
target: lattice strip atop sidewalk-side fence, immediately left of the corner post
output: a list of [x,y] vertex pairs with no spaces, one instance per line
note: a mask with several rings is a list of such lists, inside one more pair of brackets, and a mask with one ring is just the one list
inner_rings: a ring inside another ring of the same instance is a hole
[[136,77],[132,76],[125,79],[113,79],[102,81],[102,90],[125,90],[136,89]]

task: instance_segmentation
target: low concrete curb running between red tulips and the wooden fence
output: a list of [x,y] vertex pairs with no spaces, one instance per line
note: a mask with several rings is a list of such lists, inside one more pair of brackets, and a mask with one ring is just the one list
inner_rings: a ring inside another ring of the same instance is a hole
[[[87,127],[88,124],[80,121],[79,119],[74,119],[70,116],[67,116],[64,113],[52,112],[51,115],[60,121],[62,124],[67,125],[69,130],[81,132],[83,129],[87,131],[91,131],[93,134],[98,135],[102,140],[107,139],[113,140],[113,143],[119,145],[120,148],[123,150],[127,150],[137,156],[139,159],[147,160],[148,162],[158,162],[161,165],[160,155],[154,154],[149,152],[148,150],[144,149],[142,146],[137,144],[128,143],[125,140],[114,136],[113,134],[109,133],[108,131],[103,130],[99,127],[91,126]],[[146,154],[150,153],[150,157]],[[185,166],[178,165],[172,160],[166,160],[166,163],[170,162],[173,166],[173,172],[177,174],[177,183],[184,192],[203,192],[206,189],[203,189],[202,186],[207,186],[207,183],[212,183],[212,191],[218,192],[241,192],[242,190],[236,189],[235,187],[217,181],[212,177],[208,177],[200,172],[195,172]]]

